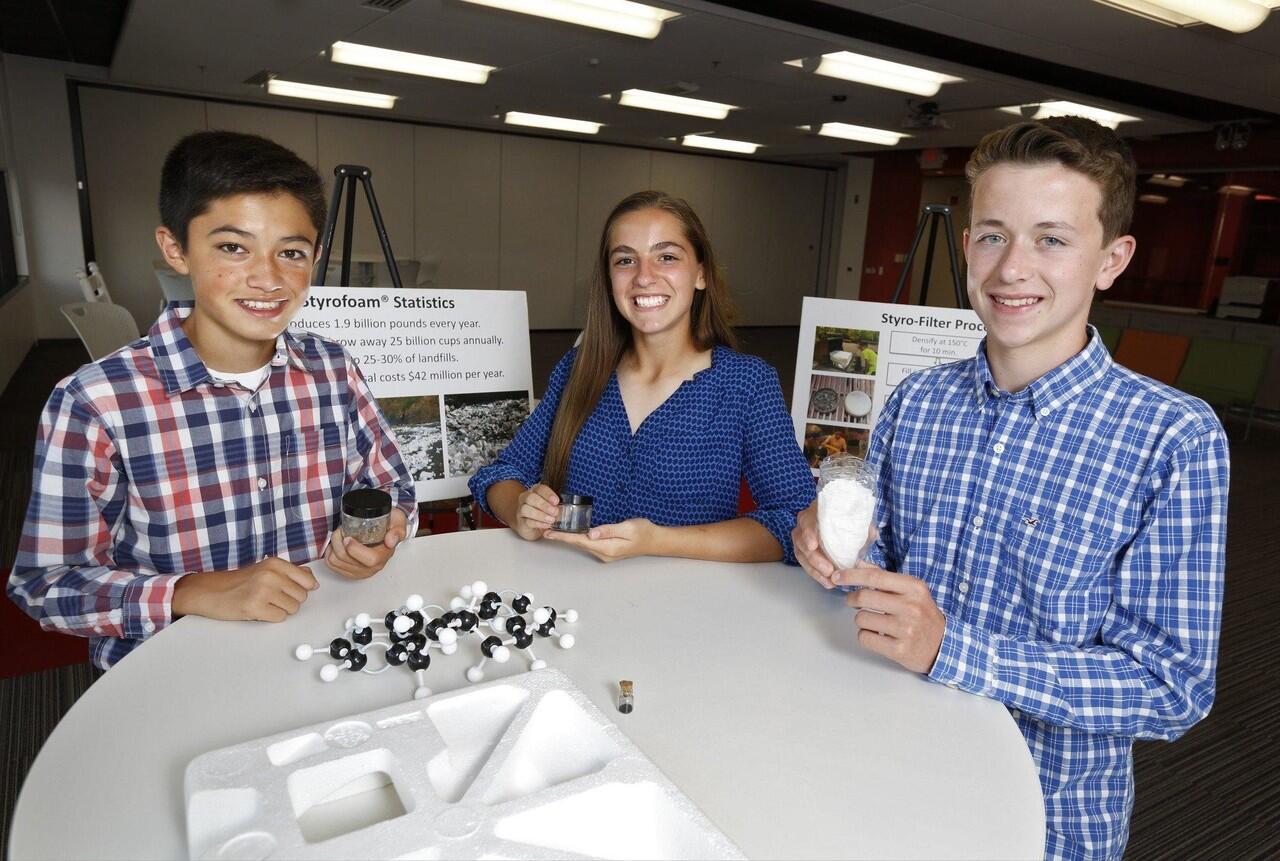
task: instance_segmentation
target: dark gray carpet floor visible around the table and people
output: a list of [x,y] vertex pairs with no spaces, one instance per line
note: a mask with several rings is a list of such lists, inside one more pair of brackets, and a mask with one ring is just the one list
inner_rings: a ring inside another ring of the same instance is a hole
[[[795,330],[744,334],[746,351],[780,368],[783,389],[790,391]],[[535,338],[535,366],[549,368],[571,342],[571,336],[557,335],[548,340],[549,349],[540,351]],[[547,353],[541,365],[540,353]],[[5,565],[13,562],[31,490],[40,408],[54,384],[82,361],[84,353],[77,342],[42,342],[0,397],[0,560]],[[1280,527],[1272,508],[1274,485],[1280,478],[1280,430],[1256,423],[1245,441],[1243,422],[1229,418],[1226,425],[1233,468],[1217,702],[1210,716],[1178,742],[1137,745],[1138,802],[1125,856],[1130,861],[1280,857],[1280,729],[1275,716],[1280,707],[1280,638],[1271,627],[1280,620]],[[27,769],[95,677],[82,664],[0,679],[4,857],[9,819]]]

